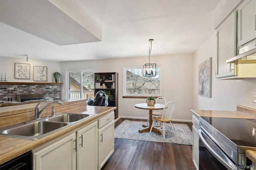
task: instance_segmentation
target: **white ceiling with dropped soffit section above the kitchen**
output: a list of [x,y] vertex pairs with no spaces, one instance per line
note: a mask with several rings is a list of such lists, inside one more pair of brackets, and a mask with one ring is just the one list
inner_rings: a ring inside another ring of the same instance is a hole
[[[148,56],[149,39],[151,56],[194,53],[214,33],[220,0],[14,2],[0,0],[0,56],[78,61]],[[93,40],[72,41],[87,34]]]

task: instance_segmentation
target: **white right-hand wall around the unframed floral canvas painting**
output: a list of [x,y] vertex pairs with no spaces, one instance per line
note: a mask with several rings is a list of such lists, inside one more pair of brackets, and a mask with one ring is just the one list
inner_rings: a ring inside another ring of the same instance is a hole
[[[236,105],[256,108],[253,92],[256,78],[240,80],[216,79],[216,35],[213,34],[194,54],[193,109],[236,111]],[[212,57],[212,98],[198,95],[198,64]]]

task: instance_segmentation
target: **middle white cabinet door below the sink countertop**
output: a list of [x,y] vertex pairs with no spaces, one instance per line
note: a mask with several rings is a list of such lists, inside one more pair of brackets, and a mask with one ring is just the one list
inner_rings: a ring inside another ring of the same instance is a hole
[[98,121],[77,131],[77,169],[96,170],[98,166]]

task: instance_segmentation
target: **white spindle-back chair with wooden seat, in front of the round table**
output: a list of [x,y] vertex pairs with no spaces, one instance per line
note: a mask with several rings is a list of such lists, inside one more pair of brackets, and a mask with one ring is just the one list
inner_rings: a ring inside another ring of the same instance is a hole
[[174,101],[169,101],[168,103],[166,103],[166,105],[164,106],[164,110],[162,113],[161,117],[153,117],[153,124],[158,121],[158,122],[162,122],[162,126],[160,127],[155,127],[155,126],[151,126],[150,128],[150,132],[152,131],[152,128],[156,128],[158,130],[163,130],[163,135],[164,135],[164,139],[165,139],[165,127],[168,126],[166,123],[170,123],[170,127],[172,128],[172,132],[173,134],[175,134],[174,129],[172,127],[172,113],[175,109],[175,102]]

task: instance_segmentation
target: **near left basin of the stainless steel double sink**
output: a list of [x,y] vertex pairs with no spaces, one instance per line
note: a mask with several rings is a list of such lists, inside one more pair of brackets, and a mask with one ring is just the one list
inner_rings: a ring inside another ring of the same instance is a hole
[[35,140],[56,132],[68,123],[32,121],[30,123],[18,123],[0,128],[0,135]]

